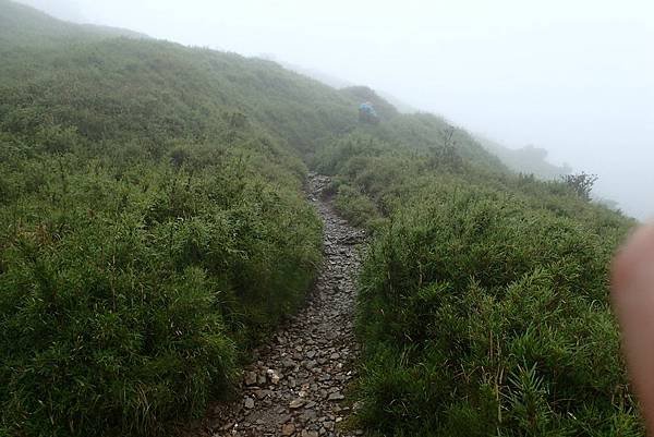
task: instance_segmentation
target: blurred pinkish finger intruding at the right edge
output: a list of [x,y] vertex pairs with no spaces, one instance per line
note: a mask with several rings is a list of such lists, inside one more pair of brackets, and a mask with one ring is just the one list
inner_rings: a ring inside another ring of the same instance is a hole
[[654,433],[654,226],[643,227],[613,265],[613,305],[622,331],[631,383]]

